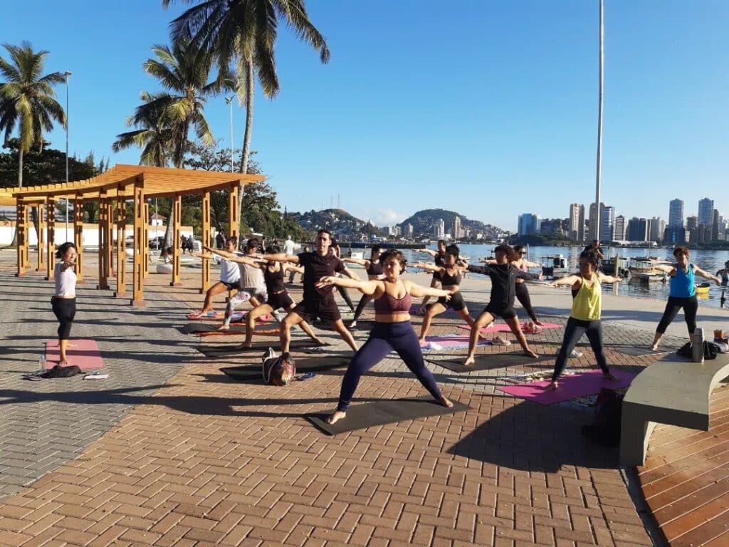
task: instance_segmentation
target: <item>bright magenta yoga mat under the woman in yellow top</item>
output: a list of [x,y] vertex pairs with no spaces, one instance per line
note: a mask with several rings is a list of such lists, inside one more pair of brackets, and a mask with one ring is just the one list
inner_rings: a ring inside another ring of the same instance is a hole
[[496,389],[514,397],[534,401],[534,403],[551,405],[561,403],[564,400],[585,397],[585,395],[595,395],[603,387],[608,389],[628,387],[636,377],[636,374],[631,372],[618,370],[610,372],[617,380],[604,379],[602,371],[587,371],[577,372],[571,376],[561,376],[558,380],[559,386],[554,391],[545,391],[545,387],[549,385],[549,380],[532,381],[528,384],[516,386],[496,387]]

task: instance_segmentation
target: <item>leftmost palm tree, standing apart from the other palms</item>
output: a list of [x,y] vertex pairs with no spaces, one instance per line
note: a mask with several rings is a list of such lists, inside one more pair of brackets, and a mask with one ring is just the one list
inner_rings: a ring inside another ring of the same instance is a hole
[[36,52],[28,42],[3,47],[10,61],[0,57],[0,74],[7,80],[0,83],[0,131],[5,131],[7,143],[18,127],[17,185],[23,187],[23,154],[33,146],[43,150],[43,131],[52,131],[54,120],[66,126],[66,112],[52,88],[64,79],[61,72],[41,76],[47,51]]

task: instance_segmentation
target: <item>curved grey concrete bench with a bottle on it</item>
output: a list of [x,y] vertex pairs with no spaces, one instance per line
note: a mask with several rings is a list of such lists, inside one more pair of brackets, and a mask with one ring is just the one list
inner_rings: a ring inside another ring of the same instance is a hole
[[709,396],[729,376],[729,354],[704,362],[677,353],[645,368],[623,399],[620,463],[644,465],[655,424],[709,430]]

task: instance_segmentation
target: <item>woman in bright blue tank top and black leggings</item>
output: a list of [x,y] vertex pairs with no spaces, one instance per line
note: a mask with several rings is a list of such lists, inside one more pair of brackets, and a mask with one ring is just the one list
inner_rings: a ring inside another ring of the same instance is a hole
[[652,346],[654,352],[658,351],[660,338],[663,337],[668,325],[671,325],[671,321],[674,320],[679,309],[682,308],[688,327],[688,335],[693,342],[696,330],[696,311],[698,311],[695,276],[712,279],[717,285],[721,284],[721,279],[717,276],[712,276],[712,274],[703,271],[697,265],[690,263],[688,255],[687,247],[676,247],[674,249],[674,257],[676,257],[674,265],[655,266],[656,269],[665,271],[671,277],[671,292],[668,293],[668,303],[666,303],[666,310],[663,311],[663,317],[660,318],[660,323],[655,329]]

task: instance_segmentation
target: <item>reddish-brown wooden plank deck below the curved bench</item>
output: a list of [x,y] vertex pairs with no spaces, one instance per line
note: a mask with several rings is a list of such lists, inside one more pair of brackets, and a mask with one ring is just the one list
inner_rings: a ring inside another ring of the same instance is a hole
[[709,431],[659,425],[638,468],[671,546],[729,546],[729,386],[714,391]]

